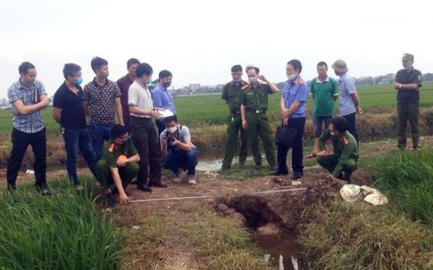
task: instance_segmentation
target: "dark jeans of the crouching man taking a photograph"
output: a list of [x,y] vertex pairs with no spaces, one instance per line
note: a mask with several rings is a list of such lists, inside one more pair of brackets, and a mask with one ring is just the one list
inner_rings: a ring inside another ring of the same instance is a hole
[[197,148],[193,146],[190,151],[173,150],[162,158],[163,168],[170,169],[177,175],[179,168],[187,168],[188,176],[196,176],[196,166],[198,163]]

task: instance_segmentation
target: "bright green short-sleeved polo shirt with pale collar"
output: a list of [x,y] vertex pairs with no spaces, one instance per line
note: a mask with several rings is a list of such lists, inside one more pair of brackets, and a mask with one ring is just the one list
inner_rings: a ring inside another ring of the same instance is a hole
[[310,94],[314,95],[312,116],[332,116],[334,113],[334,96],[338,95],[337,81],[326,78],[321,82],[318,78],[312,79]]

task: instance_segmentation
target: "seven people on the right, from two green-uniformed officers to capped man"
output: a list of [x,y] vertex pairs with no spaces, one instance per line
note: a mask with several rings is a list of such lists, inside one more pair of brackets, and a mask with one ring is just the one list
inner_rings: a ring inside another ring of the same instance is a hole
[[[404,53],[402,59],[404,70],[396,74],[395,88],[397,94],[398,148],[406,147],[407,120],[411,124],[413,149],[419,147],[419,89],[421,71],[412,67],[413,55]],[[305,158],[317,158],[321,167],[339,179],[353,182],[352,173],[358,166],[359,139],[356,132],[356,114],[362,114],[359,97],[356,93],[355,80],[348,72],[346,61],[337,60],[331,65],[338,80],[328,75],[328,65],[324,61],[317,64],[317,78],[313,78],[310,91],[307,83],[301,78],[303,69],[301,61],[287,62],[287,81],[280,99],[281,125],[296,130],[292,149],[292,175],[294,183],[300,184],[304,175],[303,136],[305,126],[305,102],[308,95],[313,99],[312,123],[314,146],[311,154]],[[258,136],[262,139],[266,159],[273,176],[288,175],[288,147],[278,145],[277,160],[273,134],[266,114],[268,94],[279,92],[267,78],[259,74],[257,67],[248,66],[248,81],[242,80],[243,70],[240,65],[231,69],[232,80],[223,88],[221,98],[229,105],[229,122],[227,141],[221,170],[231,168],[234,150],[237,145],[237,134],[240,133],[239,167],[246,162],[247,145],[250,145],[254,157],[254,168],[262,168],[262,156],[258,148]],[[260,79],[260,81],[258,80]],[[333,118],[334,103],[338,100],[338,117]],[[331,147],[332,144],[332,147]],[[331,151],[332,149],[332,151]]]

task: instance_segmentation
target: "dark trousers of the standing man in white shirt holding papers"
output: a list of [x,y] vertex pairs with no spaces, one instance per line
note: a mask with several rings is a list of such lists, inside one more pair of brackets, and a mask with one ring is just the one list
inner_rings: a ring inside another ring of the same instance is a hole
[[137,185],[146,185],[147,177],[150,183],[160,183],[161,154],[152,119],[131,117],[130,124],[132,142],[140,156]]

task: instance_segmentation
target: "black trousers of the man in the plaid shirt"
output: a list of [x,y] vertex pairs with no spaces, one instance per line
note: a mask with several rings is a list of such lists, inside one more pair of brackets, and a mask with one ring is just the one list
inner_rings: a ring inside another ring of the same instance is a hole
[[8,160],[6,180],[7,184],[15,185],[18,171],[27,148],[31,145],[31,150],[35,155],[33,167],[35,170],[35,185],[37,188],[46,188],[46,128],[37,133],[24,133],[13,128],[12,130],[12,151]]

